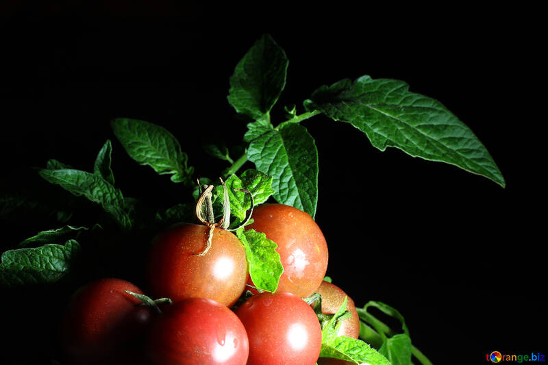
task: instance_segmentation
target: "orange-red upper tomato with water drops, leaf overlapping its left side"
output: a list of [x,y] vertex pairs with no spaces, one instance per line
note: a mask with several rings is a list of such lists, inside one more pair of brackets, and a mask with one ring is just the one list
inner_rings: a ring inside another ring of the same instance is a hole
[[253,210],[253,224],[246,229],[264,232],[277,243],[284,273],[277,290],[308,297],[318,288],[327,270],[327,243],[307,213],[282,204],[265,204]]

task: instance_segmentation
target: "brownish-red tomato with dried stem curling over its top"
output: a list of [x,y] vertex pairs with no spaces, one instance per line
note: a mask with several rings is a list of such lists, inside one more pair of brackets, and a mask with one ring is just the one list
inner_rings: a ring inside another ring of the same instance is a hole
[[221,228],[213,231],[212,245],[204,256],[209,228],[181,224],[153,240],[149,255],[149,291],[173,301],[208,298],[230,306],[245,290],[247,259],[238,238]]

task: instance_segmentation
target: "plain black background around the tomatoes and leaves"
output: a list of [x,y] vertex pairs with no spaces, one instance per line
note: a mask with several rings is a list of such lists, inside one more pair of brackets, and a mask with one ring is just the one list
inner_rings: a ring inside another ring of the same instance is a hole
[[[378,151],[351,125],[324,116],[303,122],[319,150],[316,222],[334,284],[357,305],[373,299],[396,307],[434,364],[486,363],[491,351],[546,353],[545,199],[534,172],[545,166],[535,142],[545,118],[534,112],[535,32],[517,22],[525,15],[450,5],[366,12],[273,6],[262,9],[269,16],[251,16],[169,2],[131,10],[124,2],[82,4],[40,11],[11,4],[3,12],[4,182],[49,158],[90,170],[110,138],[125,196],[165,206],[188,201],[169,177],[127,157],[109,122],[124,116],[162,125],[196,176],[219,175],[225,165],[205,155],[201,142],[241,142],[246,127],[226,101],[228,79],[269,32],[290,60],[274,123],[284,105],[302,112],[301,102],[323,84],[366,74],[402,79],[469,125],[506,178],[503,189],[455,166]],[[2,227],[2,249],[50,228],[10,223]],[[28,304],[17,312],[26,313],[27,325],[47,316],[41,303]],[[14,344],[54,357],[47,328],[38,327],[8,326],[8,357]]]

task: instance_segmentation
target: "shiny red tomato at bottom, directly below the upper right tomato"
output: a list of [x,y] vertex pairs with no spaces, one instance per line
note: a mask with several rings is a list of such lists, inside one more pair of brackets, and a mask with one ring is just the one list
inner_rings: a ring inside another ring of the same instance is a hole
[[289,292],[254,295],[236,310],[249,338],[248,365],[314,365],[321,327],[314,310]]

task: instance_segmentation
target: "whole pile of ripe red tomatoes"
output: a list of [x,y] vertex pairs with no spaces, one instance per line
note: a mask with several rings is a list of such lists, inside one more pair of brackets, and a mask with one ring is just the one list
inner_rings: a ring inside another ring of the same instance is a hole
[[[264,232],[276,242],[284,266],[274,294],[251,290],[253,296],[238,301],[253,283],[245,249],[234,234],[214,229],[211,247],[201,256],[197,253],[206,246],[209,228],[175,225],[153,240],[147,268],[147,295],[169,297],[173,304],[160,305],[161,313],[155,314],[127,292],[143,294],[134,284],[121,279],[93,281],[73,295],[66,311],[66,361],[332,364],[318,359],[321,326],[302,300],[319,292],[323,314],[333,314],[346,295],[323,281],[327,244],[321,230],[308,214],[287,205],[260,205],[253,220],[247,229]],[[347,310],[352,316],[341,323],[339,334],[357,338],[359,320],[351,299]]]

